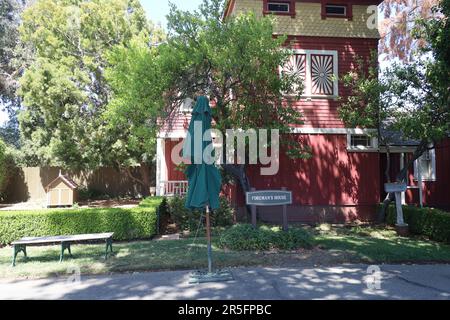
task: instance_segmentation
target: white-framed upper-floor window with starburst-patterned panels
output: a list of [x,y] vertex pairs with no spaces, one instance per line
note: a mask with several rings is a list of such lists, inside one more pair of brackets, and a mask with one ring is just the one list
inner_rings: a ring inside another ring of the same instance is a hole
[[334,98],[338,95],[336,51],[294,50],[281,73],[296,74],[303,79],[303,96]]

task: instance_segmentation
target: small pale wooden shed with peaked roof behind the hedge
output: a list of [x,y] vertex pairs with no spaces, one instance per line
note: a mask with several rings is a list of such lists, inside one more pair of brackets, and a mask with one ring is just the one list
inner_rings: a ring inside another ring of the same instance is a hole
[[78,185],[68,176],[59,176],[45,188],[47,207],[73,206],[77,200]]

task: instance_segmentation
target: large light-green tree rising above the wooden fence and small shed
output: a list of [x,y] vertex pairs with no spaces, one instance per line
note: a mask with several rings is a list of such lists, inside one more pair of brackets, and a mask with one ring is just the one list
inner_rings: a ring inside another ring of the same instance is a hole
[[[148,177],[146,151],[129,153],[123,137],[131,131],[114,128],[105,115],[112,96],[108,54],[153,31],[139,2],[38,0],[22,17],[21,39],[35,49],[19,91],[28,164],[81,169],[139,163]],[[146,195],[149,182],[141,182]]]

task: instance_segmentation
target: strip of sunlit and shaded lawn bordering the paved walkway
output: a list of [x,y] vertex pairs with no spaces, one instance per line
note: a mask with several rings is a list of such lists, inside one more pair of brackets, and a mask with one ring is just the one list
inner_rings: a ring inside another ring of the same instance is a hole
[[[216,267],[236,266],[315,266],[350,263],[450,263],[450,246],[421,238],[399,238],[391,229],[331,228],[315,229],[313,250],[295,252],[236,252],[213,241]],[[40,278],[68,275],[74,267],[82,274],[205,268],[204,238],[120,242],[115,255],[103,260],[104,245],[74,245],[74,258],[58,262],[59,246],[29,247],[25,261],[19,254],[11,267],[11,247],[0,249],[0,278]]]

